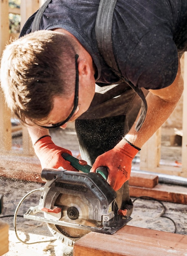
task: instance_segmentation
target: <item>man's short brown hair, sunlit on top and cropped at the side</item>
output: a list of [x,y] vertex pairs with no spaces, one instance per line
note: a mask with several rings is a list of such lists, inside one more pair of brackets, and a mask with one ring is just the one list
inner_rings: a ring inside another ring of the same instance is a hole
[[76,50],[70,36],[53,31],[31,33],[6,47],[1,87],[9,108],[23,123],[45,120],[54,97],[68,98],[75,91]]

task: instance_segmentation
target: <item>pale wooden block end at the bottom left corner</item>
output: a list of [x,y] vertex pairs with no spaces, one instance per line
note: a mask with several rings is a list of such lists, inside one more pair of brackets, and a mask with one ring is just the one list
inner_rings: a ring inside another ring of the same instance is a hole
[[0,222],[0,255],[9,251],[9,225]]

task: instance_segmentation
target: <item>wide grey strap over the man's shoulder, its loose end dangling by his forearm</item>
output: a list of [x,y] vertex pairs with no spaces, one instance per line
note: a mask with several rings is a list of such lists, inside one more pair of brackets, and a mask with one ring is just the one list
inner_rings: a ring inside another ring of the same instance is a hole
[[134,86],[129,80],[125,79],[119,72],[112,48],[112,17],[116,3],[117,0],[100,0],[95,23],[95,35],[99,52],[106,63],[112,68],[113,72],[119,76],[120,80],[128,83],[128,85],[142,99],[141,115],[136,123],[136,131],[138,131],[141,128],[147,113],[147,102],[142,90]]

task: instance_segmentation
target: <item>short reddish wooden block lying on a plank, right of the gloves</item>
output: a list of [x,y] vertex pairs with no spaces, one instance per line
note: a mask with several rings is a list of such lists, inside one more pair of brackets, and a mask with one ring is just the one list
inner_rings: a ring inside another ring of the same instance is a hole
[[153,174],[133,173],[130,174],[129,185],[154,188],[158,184],[158,176]]

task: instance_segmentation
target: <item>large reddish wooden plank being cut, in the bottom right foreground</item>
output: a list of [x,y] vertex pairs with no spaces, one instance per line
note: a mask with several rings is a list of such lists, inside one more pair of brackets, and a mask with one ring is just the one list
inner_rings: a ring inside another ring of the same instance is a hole
[[187,255],[187,236],[125,226],[113,235],[90,232],[74,245],[74,256]]

